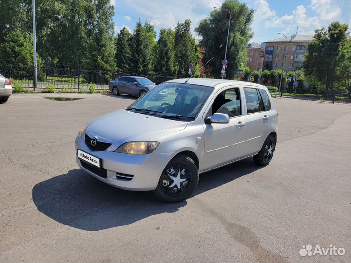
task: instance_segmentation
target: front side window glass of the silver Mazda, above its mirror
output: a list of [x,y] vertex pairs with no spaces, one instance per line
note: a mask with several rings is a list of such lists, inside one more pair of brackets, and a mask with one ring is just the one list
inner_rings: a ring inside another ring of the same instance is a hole
[[210,109],[210,116],[215,113],[227,114],[230,118],[241,115],[239,88],[231,88],[217,95]]

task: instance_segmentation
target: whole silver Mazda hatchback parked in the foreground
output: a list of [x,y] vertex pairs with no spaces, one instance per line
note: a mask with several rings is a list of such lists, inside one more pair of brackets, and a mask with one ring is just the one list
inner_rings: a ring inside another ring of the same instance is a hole
[[277,117],[262,85],[171,80],[84,125],[75,141],[76,161],[117,188],[152,190],[163,201],[179,202],[194,191],[200,173],[248,157],[268,165]]

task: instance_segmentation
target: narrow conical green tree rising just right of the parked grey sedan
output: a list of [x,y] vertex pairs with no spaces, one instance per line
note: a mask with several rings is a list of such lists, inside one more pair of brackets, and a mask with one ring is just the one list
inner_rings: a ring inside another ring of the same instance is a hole
[[160,30],[159,39],[155,49],[155,71],[168,75],[176,75],[174,52],[175,32],[169,28]]

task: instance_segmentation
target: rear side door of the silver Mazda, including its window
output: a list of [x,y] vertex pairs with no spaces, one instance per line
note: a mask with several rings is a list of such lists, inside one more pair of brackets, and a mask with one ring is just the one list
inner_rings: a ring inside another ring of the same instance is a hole
[[253,154],[261,149],[270,131],[270,116],[258,88],[244,87],[244,94],[247,119],[245,144],[248,154]]

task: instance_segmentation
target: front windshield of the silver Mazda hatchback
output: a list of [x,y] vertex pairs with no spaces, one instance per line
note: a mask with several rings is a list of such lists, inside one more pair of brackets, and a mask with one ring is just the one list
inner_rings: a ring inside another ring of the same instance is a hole
[[163,83],[140,97],[126,110],[156,117],[194,120],[213,88],[185,83]]

